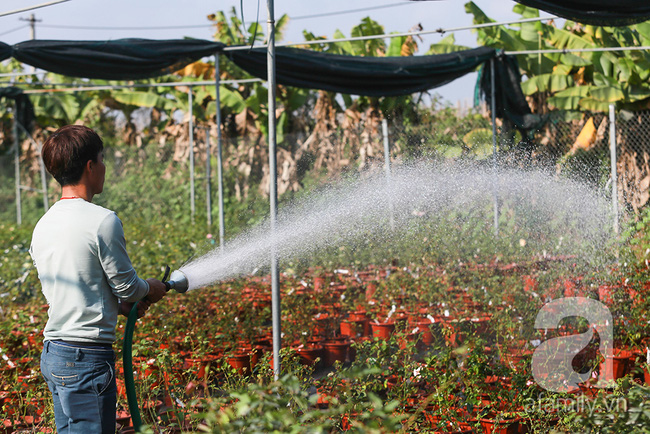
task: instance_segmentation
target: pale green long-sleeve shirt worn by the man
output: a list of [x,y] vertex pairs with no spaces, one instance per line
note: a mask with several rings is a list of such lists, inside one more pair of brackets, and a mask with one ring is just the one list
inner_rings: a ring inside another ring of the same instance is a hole
[[126,252],[120,219],[83,199],[60,200],[45,213],[30,254],[50,306],[45,340],[113,343],[118,299],[149,293]]

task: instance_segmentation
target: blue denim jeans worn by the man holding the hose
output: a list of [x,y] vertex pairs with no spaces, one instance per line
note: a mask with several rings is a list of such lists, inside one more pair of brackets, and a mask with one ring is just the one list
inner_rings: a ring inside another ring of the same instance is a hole
[[54,400],[59,433],[115,434],[115,355],[112,349],[46,341],[41,373]]

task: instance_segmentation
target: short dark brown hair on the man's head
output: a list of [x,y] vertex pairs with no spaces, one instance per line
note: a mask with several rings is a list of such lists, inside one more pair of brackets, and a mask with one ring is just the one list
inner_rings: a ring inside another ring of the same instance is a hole
[[104,149],[99,135],[83,125],[59,128],[43,144],[43,162],[61,187],[75,185],[81,180],[88,161],[97,161]]

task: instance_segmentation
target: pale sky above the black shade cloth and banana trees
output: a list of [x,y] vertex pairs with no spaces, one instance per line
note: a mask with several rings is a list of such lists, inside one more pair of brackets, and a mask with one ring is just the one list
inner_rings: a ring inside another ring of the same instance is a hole
[[[0,14],[35,6],[48,0],[4,0]],[[281,42],[303,41],[302,31],[333,37],[338,29],[348,36],[350,30],[364,17],[383,25],[387,33],[408,32],[421,24],[424,30],[452,29],[472,25],[472,17],[465,13],[466,0],[407,1],[407,0],[275,0],[275,18],[290,17],[285,38]],[[510,21],[520,16],[512,12],[512,0],[474,0],[489,17],[496,21]],[[107,40],[120,38],[180,39],[193,37],[212,40],[213,29],[206,18],[217,11],[229,12],[234,7],[241,16],[243,4],[246,22],[256,21],[266,32],[266,0],[69,0],[45,8],[0,16],[0,41],[15,44],[31,38],[26,21],[31,14],[36,39]],[[259,14],[258,14],[259,8]],[[340,13],[345,12],[345,13]],[[331,14],[332,15],[323,15]],[[320,15],[314,17],[313,15]],[[542,15],[548,15],[542,12]],[[456,42],[476,47],[476,36],[469,30],[453,32]],[[446,35],[445,35],[446,36]],[[439,34],[423,36],[420,50],[424,54],[429,45],[439,41]],[[280,42],[280,41],[278,41]],[[476,74],[437,88],[446,101],[456,105],[470,104],[474,95]]]

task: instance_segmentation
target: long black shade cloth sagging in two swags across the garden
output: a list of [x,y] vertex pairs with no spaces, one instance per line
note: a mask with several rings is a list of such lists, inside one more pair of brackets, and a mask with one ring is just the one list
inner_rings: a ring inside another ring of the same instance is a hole
[[[105,80],[132,80],[169,74],[202,57],[223,53],[253,76],[266,79],[266,50],[239,49],[224,52],[224,44],[201,39],[112,41],[30,40],[10,46],[0,43],[0,61],[9,57],[58,74]],[[320,89],[352,95],[399,96],[426,91],[447,84],[495,59],[500,70],[517,68],[516,61],[481,47],[448,54],[412,57],[360,57],[328,54],[297,48],[276,50],[279,84]],[[518,71],[515,71],[518,74]],[[504,95],[523,99],[519,82],[512,74],[497,75]],[[490,83],[484,84],[489,87]],[[489,94],[489,89],[483,89]],[[518,122],[530,114],[527,106],[510,107],[501,101],[499,116]],[[525,109],[525,113],[519,110]],[[518,113],[514,113],[517,110]]]

